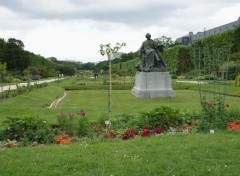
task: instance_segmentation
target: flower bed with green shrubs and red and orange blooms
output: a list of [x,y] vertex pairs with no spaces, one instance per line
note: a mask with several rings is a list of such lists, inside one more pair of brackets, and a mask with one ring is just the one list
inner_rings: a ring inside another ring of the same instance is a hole
[[139,115],[119,115],[112,121],[111,131],[107,133],[104,118],[99,118],[98,122],[89,122],[84,110],[78,113],[60,113],[56,117],[56,124],[48,124],[39,118],[8,118],[0,126],[0,143],[4,143],[5,147],[36,146],[52,143],[69,144],[86,137],[98,139],[119,137],[127,140],[136,135],[149,137],[162,133],[206,132],[211,129],[210,127],[240,129],[239,113],[226,114],[224,119],[228,121],[214,118],[215,121],[211,121],[212,126],[209,126],[210,122],[207,121],[209,117],[206,115],[161,106]]

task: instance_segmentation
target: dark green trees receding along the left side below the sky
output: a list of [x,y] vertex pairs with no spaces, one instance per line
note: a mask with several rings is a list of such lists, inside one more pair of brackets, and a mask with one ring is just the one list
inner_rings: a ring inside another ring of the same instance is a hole
[[45,58],[26,51],[24,43],[15,38],[7,41],[0,38],[0,62],[7,64],[7,71],[11,74],[23,74],[27,69],[30,74],[42,77],[56,76],[59,72],[73,75],[83,65],[81,62],[58,61],[55,57]]

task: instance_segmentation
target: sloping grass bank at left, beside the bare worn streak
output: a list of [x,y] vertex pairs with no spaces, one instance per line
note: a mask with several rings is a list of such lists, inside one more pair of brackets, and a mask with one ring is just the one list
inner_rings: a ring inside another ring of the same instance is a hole
[[0,122],[6,117],[40,117],[48,119],[51,116],[51,111],[47,107],[52,101],[61,97],[63,93],[63,88],[50,84],[47,87],[17,97],[0,100]]

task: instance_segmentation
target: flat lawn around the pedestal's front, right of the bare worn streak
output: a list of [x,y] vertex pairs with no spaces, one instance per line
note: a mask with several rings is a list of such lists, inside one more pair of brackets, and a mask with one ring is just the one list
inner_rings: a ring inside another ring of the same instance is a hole
[[[130,90],[113,90],[111,96],[112,115],[138,114],[151,111],[162,105],[191,111],[200,110],[198,92],[189,90],[178,90],[176,92],[176,98],[139,99],[132,96]],[[59,106],[59,109],[64,108],[68,108],[68,111],[71,112],[84,109],[88,112],[89,117],[98,117],[99,114],[108,112],[108,91],[71,91]]]

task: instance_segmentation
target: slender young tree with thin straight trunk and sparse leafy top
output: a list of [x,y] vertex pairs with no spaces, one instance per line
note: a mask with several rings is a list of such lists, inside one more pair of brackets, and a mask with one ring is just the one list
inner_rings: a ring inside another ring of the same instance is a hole
[[102,45],[100,44],[100,54],[102,56],[107,55],[108,57],[108,61],[109,61],[109,91],[108,91],[108,121],[105,122],[106,126],[107,126],[107,132],[110,129],[110,125],[111,125],[111,96],[112,96],[112,68],[111,68],[111,59],[113,54],[117,53],[118,50],[120,50],[123,46],[125,46],[125,43],[116,43],[116,45],[114,47],[111,47],[111,44],[105,44]]

